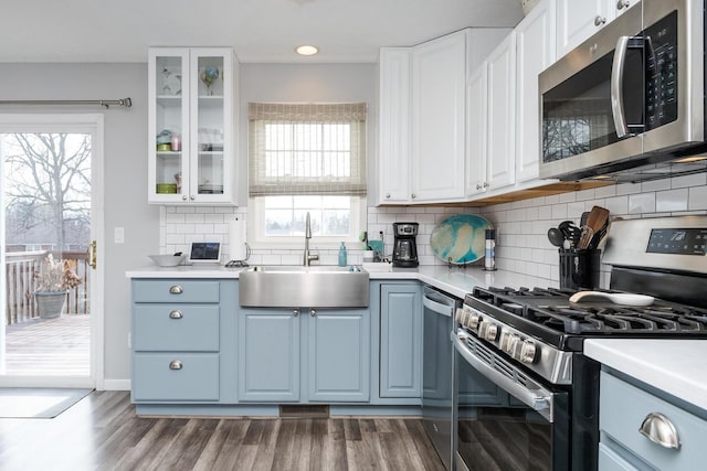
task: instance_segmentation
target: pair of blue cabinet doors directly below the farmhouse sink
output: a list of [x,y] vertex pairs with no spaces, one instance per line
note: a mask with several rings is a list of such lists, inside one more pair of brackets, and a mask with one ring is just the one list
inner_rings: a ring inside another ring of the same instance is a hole
[[241,309],[239,402],[368,402],[369,342],[367,309]]

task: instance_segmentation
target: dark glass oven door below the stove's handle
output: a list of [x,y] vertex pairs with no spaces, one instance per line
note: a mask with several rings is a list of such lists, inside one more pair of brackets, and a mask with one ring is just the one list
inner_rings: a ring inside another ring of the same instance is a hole
[[549,422],[455,355],[457,460],[471,471],[567,469],[566,426]]

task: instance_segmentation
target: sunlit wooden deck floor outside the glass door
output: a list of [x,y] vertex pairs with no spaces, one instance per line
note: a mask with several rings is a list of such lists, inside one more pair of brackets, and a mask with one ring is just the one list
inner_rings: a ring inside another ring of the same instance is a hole
[[88,376],[91,315],[62,314],[6,325],[6,374]]

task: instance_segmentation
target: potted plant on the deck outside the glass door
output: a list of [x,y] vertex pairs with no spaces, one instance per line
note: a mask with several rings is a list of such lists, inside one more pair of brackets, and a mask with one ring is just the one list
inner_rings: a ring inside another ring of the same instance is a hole
[[42,260],[34,279],[34,299],[42,319],[60,317],[64,310],[66,293],[81,283],[81,278],[72,270],[68,261],[54,260],[52,254]]

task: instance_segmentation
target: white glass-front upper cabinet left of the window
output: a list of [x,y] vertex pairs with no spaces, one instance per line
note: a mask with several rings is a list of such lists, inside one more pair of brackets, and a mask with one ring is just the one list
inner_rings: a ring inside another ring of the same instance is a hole
[[150,203],[235,204],[236,81],[231,49],[150,49]]

